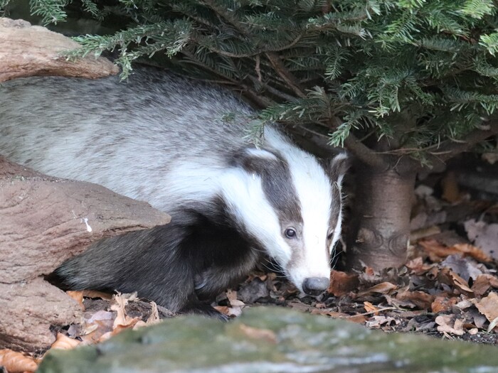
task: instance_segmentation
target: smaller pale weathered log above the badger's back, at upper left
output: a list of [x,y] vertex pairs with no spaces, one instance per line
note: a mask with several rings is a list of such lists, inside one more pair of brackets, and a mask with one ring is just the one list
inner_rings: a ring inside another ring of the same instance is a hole
[[32,75],[97,78],[119,72],[105,58],[69,61],[60,53],[80,45],[59,33],[23,20],[0,18],[0,82]]

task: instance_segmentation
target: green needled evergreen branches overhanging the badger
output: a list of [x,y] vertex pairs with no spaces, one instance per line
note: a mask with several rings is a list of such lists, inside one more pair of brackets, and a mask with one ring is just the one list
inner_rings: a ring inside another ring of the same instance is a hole
[[[6,1],[6,0],[1,0]],[[31,0],[44,22],[69,0]],[[73,4],[74,6],[75,4]],[[492,0],[82,0],[83,16],[122,31],[85,36],[80,55],[119,50],[123,76],[151,58],[238,86],[269,121],[351,136],[424,161],[498,107],[498,14]],[[164,58],[164,55],[167,58]],[[257,136],[256,136],[257,137]],[[372,145],[373,144],[373,145]]]

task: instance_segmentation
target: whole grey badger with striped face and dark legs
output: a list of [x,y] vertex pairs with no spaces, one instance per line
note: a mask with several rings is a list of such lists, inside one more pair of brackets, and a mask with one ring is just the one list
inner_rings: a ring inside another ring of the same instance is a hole
[[[327,162],[277,124],[246,139],[248,104],[232,92],[152,67],[85,80],[0,85],[0,153],[84,180],[171,215],[171,223],[93,244],[54,272],[63,288],[132,292],[177,313],[208,301],[262,254],[307,294],[329,285],[341,234],[344,153]],[[227,120],[229,118],[229,120]]]

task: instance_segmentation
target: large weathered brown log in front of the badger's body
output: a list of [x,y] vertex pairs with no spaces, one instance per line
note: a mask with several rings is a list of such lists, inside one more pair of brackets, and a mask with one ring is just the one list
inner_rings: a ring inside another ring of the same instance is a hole
[[0,157],[0,348],[43,349],[55,340],[51,325],[78,320],[78,304],[43,275],[98,239],[169,219],[100,185],[51,178]]

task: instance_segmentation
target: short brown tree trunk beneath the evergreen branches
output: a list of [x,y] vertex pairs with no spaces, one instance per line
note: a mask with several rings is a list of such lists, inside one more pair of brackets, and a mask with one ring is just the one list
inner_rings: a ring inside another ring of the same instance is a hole
[[416,170],[399,173],[359,166],[349,234],[346,267],[381,270],[405,263]]

